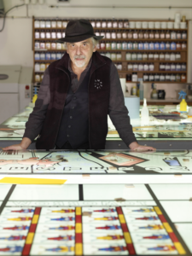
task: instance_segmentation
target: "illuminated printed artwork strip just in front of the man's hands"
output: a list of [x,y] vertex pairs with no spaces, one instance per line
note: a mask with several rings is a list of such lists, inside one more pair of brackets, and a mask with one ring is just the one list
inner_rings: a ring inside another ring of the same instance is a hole
[[0,151],[0,173],[192,173],[192,152]]

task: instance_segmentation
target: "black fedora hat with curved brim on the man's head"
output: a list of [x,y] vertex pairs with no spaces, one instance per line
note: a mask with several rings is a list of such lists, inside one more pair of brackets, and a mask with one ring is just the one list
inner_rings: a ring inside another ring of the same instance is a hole
[[66,37],[58,39],[56,43],[76,43],[84,41],[87,38],[101,40],[103,37],[94,34],[93,26],[89,20],[70,20],[66,27]]

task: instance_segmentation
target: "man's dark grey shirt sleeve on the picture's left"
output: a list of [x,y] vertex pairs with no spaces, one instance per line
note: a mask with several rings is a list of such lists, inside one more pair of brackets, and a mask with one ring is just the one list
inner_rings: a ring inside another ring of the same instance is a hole
[[49,91],[49,67],[44,72],[44,79],[38,90],[38,99],[35,102],[35,107],[26,122],[26,130],[23,137],[28,137],[33,141],[40,133],[44,124],[47,108],[50,101]]

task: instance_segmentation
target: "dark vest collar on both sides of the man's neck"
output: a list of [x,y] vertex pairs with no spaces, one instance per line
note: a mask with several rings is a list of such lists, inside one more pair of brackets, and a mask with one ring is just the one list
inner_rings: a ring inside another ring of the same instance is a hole
[[[66,52],[62,56],[61,60],[57,63],[55,68],[63,70],[68,73],[69,72],[68,61],[69,61],[69,55]],[[92,55],[92,64],[91,64],[90,73],[93,73],[97,68],[102,67],[105,64],[106,64],[106,61],[104,60],[102,55],[100,55],[97,51],[94,52]]]

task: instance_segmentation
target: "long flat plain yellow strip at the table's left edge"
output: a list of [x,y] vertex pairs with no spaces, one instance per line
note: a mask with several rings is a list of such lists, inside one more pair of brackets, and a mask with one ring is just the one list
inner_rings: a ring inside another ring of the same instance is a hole
[[49,179],[49,178],[30,178],[30,177],[3,177],[0,183],[11,184],[38,184],[38,185],[61,185],[67,182],[67,179]]

